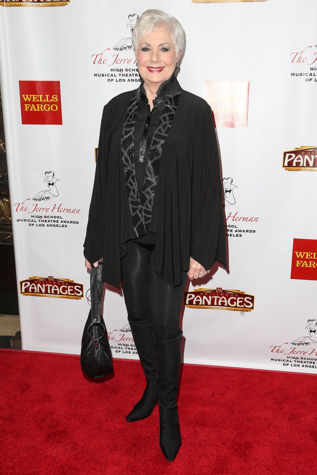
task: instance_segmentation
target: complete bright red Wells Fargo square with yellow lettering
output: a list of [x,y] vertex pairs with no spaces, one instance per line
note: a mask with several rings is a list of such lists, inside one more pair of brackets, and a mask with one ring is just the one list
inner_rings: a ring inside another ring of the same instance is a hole
[[19,81],[23,124],[62,124],[59,81]]

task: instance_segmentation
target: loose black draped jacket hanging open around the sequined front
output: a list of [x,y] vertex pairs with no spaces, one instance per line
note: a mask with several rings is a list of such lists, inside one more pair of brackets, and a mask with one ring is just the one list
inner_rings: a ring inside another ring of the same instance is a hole
[[[113,97],[101,119],[96,172],[84,256],[103,257],[102,280],[120,289],[121,258],[134,239],[120,140],[133,91]],[[216,133],[210,105],[183,91],[163,143],[149,230],[156,233],[154,270],[172,286],[181,283],[190,257],[209,269],[226,266],[226,240]]]

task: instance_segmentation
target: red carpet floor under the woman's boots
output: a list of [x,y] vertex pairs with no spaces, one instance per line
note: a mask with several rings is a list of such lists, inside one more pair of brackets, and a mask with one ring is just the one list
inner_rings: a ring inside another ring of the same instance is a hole
[[79,356],[0,350],[1,475],[316,474],[315,375],[182,365],[182,447],[167,461],[139,361],[85,379]]

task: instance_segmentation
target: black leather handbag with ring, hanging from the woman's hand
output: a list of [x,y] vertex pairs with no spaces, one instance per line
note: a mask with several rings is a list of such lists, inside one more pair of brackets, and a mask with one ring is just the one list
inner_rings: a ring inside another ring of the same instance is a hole
[[104,283],[101,280],[102,262],[91,266],[90,301],[91,308],[81,340],[80,365],[90,378],[102,378],[114,370],[112,353],[107,338],[106,324],[101,314],[101,298]]

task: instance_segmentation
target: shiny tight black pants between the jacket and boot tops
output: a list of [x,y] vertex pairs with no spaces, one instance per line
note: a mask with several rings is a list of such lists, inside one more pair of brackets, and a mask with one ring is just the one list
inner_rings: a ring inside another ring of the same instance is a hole
[[187,272],[181,271],[182,283],[173,287],[154,270],[155,244],[127,241],[127,253],[121,260],[121,286],[129,320],[151,316],[154,336],[171,340],[179,335],[179,318]]

